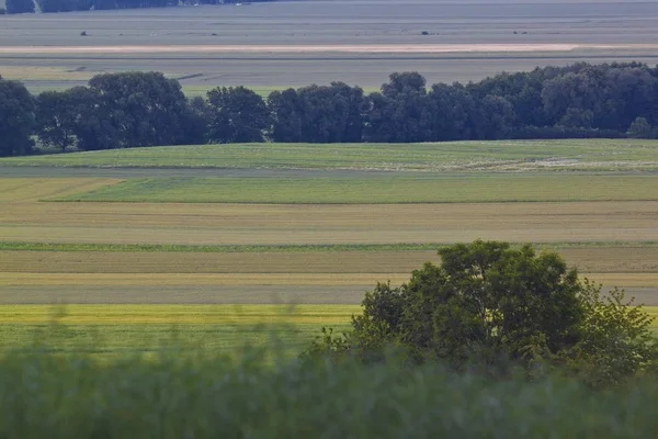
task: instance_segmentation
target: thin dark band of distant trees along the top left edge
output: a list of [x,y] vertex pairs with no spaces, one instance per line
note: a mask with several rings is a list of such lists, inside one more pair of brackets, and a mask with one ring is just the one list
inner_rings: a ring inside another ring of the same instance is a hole
[[[275,0],[251,0],[275,1]],[[7,0],[2,12],[10,14],[34,13],[36,5],[42,12],[70,12],[110,9],[137,9],[137,8],[166,8],[181,4],[228,4],[237,3],[239,0]]]

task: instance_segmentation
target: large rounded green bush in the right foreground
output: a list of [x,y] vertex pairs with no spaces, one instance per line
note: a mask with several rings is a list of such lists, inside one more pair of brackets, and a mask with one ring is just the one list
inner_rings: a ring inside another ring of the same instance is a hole
[[[439,250],[408,283],[377,284],[353,317],[345,353],[400,346],[416,359],[491,372],[560,367],[592,386],[620,384],[657,363],[650,318],[613,290],[581,282],[553,252],[476,240]],[[324,340],[327,350],[336,344]],[[316,351],[321,351],[316,346]],[[507,373],[507,372],[506,372]]]

